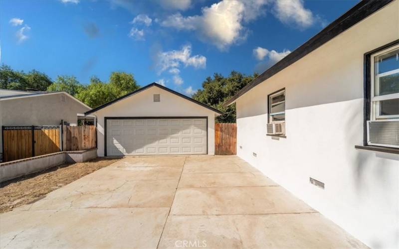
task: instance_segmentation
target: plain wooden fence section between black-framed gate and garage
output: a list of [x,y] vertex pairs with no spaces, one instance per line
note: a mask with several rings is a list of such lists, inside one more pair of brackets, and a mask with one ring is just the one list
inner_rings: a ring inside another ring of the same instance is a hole
[[96,147],[96,126],[63,126],[64,150],[85,150]]

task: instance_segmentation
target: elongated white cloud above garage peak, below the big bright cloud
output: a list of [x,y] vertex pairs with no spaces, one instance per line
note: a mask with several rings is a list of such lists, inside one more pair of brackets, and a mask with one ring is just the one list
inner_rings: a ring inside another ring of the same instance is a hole
[[206,57],[202,55],[191,56],[191,45],[185,45],[181,50],[172,50],[167,52],[160,51],[157,56],[158,74],[168,69],[177,69],[181,65],[185,67],[205,68]]

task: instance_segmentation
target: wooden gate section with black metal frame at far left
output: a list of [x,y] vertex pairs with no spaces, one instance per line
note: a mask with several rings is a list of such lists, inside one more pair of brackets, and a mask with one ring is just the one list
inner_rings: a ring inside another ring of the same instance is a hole
[[58,152],[60,126],[2,126],[3,162]]

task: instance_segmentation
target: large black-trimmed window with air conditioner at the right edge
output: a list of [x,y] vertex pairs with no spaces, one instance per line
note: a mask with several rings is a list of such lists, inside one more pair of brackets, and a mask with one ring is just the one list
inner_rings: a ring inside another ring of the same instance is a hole
[[364,146],[399,148],[399,40],[365,54]]

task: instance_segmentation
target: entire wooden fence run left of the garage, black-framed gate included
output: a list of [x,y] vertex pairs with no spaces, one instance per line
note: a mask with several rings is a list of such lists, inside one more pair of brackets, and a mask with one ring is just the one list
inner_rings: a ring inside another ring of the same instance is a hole
[[54,152],[96,147],[96,127],[2,126],[2,161],[8,162]]

